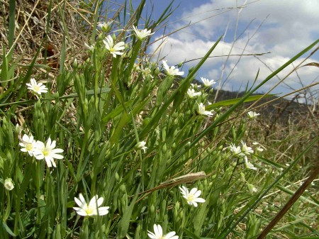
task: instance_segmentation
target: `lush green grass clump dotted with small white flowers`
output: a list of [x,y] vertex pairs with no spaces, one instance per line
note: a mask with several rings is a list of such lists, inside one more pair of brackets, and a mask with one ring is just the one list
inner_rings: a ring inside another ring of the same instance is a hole
[[[70,7],[85,47],[70,56],[66,4],[47,6],[47,21],[56,11],[63,27],[56,77],[37,62],[48,38],[26,69],[16,71],[21,65],[12,57],[17,43],[9,21],[1,63],[2,238],[159,238],[160,228],[163,236],[174,231],[171,238],[257,238],[298,188],[296,165],[318,137],[290,152],[289,140],[296,138],[268,142],[257,133],[261,116],[247,115],[242,106],[264,97],[252,94],[318,41],[240,99],[211,104],[211,89],[191,83],[221,37],[182,73],[169,59],[147,57],[150,34],[167,21],[170,5],[143,26],[145,1],[138,9],[121,6],[99,25],[106,6],[82,2]],[[289,155],[289,165],[274,145]],[[309,224],[318,217],[316,195],[303,195],[269,238],[319,236]]]

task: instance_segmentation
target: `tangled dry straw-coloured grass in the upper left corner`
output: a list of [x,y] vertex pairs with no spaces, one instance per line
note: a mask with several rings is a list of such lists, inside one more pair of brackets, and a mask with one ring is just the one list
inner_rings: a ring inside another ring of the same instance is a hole
[[[40,48],[36,62],[38,64],[45,63],[50,68],[36,67],[37,72],[34,74],[50,72],[50,77],[56,77],[60,67],[63,33],[67,33],[65,35],[66,67],[72,64],[74,57],[83,52],[85,35],[80,30],[82,26],[79,25],[79,21],[75,19],[74,8],[69,4],[64,5],[63,1],[60,1],[60,4],[54,1],[52,4],[50,22],[47,23],[49,1],[16,1],[16,30],[14,34],[16,48],[13,52],[13,59],[18,62],[17,71],[19,73],[23,72],[23,68],[28,67]],[[2,16],[0,18],[0,39],[8,52],[9,40],[6,33],[9,31],[9,0],[1,0],[0,15]],[[63,15],[64,20],[62,19]],[[64,29],[63,21],[65,21],[67,29]],[[41,43],[43,44],[41,45]]]

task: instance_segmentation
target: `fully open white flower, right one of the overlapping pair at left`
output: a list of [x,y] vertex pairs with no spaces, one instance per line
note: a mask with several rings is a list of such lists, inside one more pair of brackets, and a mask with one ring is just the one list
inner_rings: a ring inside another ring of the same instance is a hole
[[63,158],[62,155],[58,155],[58,153],[63,152],[63,150],[60,148],[55,148],[55,143],[55,140],[53,140],[51,143],[50,138],[48,138],[46,145],[39,140],[36,142],[37,145],[33,151],[33,155],[37,160],[45,159],[45,162],[47,162],[47,167],[52,167],[52,165],[53,167],[57,167],[53,159],[56,158],[57,160],[61,160]]

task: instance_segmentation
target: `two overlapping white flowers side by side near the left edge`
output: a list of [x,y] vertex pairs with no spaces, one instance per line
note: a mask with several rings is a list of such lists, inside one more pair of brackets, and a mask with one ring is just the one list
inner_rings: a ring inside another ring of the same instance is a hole
[[63,152],[60,148],[55,148],[56,141],[51,141],[51,138],[47,139],[47,143],[41,141],[35,141],[33,135],[23,135],[22,141],[19,143],[22,147],[22,152],[28,152],[32,157],[34,156],[37,160],[45,160],[47,167],[57,167],[54,159],[61,160],[63,158],[59,153]]

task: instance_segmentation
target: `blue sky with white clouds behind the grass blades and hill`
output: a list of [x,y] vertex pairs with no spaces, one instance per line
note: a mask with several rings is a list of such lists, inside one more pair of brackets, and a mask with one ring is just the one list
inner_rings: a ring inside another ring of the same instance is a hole
[[[139,2],[133,1],[135,4]],[[153,5],[152,18],[156,19],[170,2],[147,0],[145,10],[150,13]],[[218,84],[214,88],[245,91],[246,87],[262,82],[272,71],[319,38],[318,0],[176,0],[175,7],[177,9],[166,23],[164,34],[189,26],[165,38],[157,57],[165,57],[168,65],[185,61],[183,70],[187,72],[198,63],[194,59],[203,57],[223,35],[196,77],[215,79]],[[142,29],[142,25],[139,28]],[[163,30],[157,30],[152,40],[162,38]],[[151,44],[150,54],[162,42],[159,40]],[[293,65],[305,60],[309,53]],[[318,61],[319,53],[315,52],[302,65]],[[258,70],[258,78],[254,82]],[[269,91],[291,70],[293,66],[287,67],[258,92]],[[272,90],[272,94],[288,94],[315,82],[319,82],[319,67],[301,67]],[[319,85],[310,91],[318,99]]]

